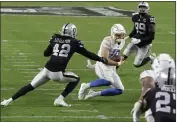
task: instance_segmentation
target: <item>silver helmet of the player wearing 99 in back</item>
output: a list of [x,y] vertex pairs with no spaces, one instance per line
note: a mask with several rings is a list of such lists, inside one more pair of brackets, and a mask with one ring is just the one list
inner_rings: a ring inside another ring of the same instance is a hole
[[142,13],[148,13],[149,12],[149,4],[147,2],[140,2],[138,4],[138,7],[137,7],[137,11],[138,13],[142,14]]

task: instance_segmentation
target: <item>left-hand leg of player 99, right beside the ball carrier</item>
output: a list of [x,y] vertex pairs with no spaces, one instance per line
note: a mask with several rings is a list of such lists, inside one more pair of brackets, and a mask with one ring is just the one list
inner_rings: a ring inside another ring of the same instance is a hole
[[124,60],[126,60],[128,56],[130,56],[130,54],[136,50],[137,50],[136,45],[134,45],[133,43],[129,43],[123,52]]

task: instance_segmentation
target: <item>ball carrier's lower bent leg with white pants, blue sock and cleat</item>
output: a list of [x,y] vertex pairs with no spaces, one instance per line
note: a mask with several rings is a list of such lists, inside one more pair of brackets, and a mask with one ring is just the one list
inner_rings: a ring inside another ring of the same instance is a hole
[[113,78],[113,82],[111,82],[112,88],[97,92],[90,90],[89,93],[85,96],[85,99],[96,96],[115,96],[122,94],[124,91],[124,86],[120,80],[120,77],[116,74],[116,72],[113,72],[111,77]]

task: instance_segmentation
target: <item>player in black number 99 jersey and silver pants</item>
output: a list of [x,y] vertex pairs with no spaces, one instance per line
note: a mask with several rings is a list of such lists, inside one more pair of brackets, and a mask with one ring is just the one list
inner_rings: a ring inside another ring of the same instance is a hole
[[131,38],[131,43],[125,48],[123,55],[124,60],[128,56],[136,52],[134,66],[141,67],[154,58],[155,54],[150,55],[152,40],[155,37],[155,17],[148,14],[149,4],[147,2],[140,2],[135,15],[132,17],[134,27],[132,32],[126,39]]

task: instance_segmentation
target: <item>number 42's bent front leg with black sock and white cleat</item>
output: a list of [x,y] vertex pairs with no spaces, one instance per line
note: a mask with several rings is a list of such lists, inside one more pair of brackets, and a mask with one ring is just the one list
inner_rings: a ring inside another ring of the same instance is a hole
[[73,72],[64,72],[63,78],[61,80],[69,82],[69,83],[66,85],[61,95],[55,99],[54,105],[70,107],[71,106],[70,104],[67,104],[64,102],[64,98],[66,98],[66,96],[68,96],[68,94],[74,90],[74,88],[79,83],[80,78]]

